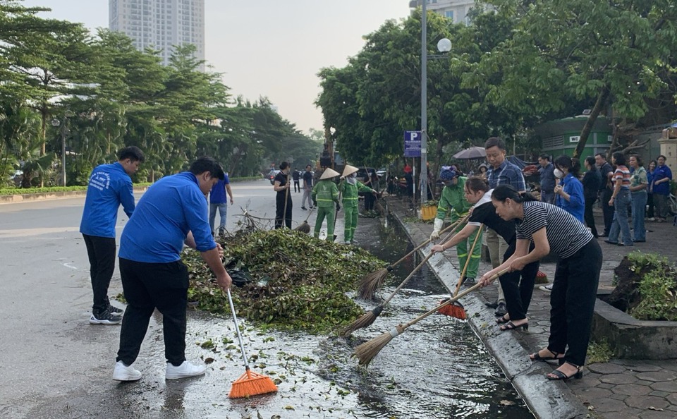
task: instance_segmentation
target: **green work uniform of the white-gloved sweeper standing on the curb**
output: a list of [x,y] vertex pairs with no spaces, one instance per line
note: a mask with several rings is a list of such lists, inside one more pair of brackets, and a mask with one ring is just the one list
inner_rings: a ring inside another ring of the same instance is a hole
[[[456,185],[444,186],[437,207],[437,218],[444,220],[444,217],[446,217],[448,212],[452,223],[459,218],[465,217],[465,214],[468,213],[468,209],[472,207],[472,204],[465,200],[465,181],[467,180],[468,178],[459,176]],[[453,231],[461,231],[463,227],[465,227],[465,224],[466,223],[456,226],[456,229],[453,229]],[[475,248],[472,249],[468,270],[465,272],[465,277],[468,278],[477,278],[477,270],[480,267],[480,256],[482,255],[482,229],[476,229],[465,241],[461,241],[461,243],[456,245],[456,256],[458,257],[459,264],[458,269],[463,269],[463,267],[465,267],[465,262],[468,260],[468,248],[472,247],[472,243],[475,243],[476,236],[479,236],[477,237],[477,244],[475,244]]]

